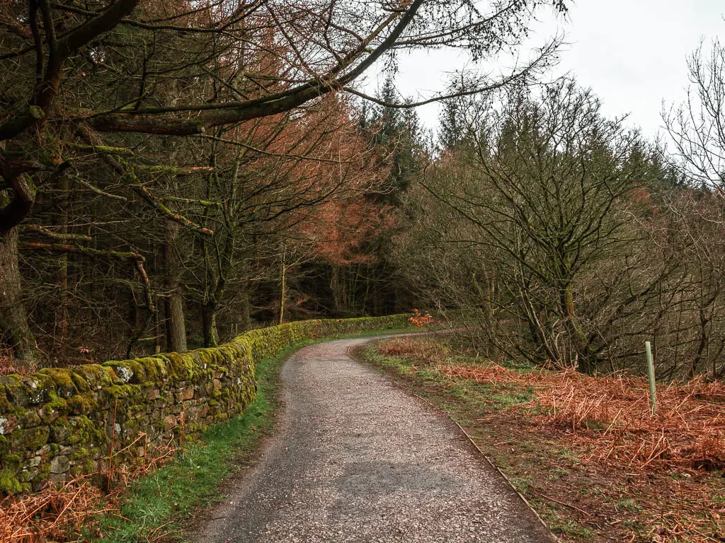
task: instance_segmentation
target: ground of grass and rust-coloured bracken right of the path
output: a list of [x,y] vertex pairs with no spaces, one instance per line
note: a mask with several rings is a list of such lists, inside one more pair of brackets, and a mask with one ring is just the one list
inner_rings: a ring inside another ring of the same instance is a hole
[[725,542],[725,384],[503,367],[452,338],[365,360],[448,413],[566,542]]

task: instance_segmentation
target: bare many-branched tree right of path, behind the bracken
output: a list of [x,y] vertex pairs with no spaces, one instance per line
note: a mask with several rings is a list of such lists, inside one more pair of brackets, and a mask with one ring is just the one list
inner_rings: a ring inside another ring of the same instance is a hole
[[486,314],[509,322],[494,340],[509,356],[596,371],[605,345],[582,280],[627,242],[621,209],[641,181],[638,135],[571,80],[539,97],[475,101],[468,126],[468,172],[426,188],[468,222],[456,242],[484,253],[469,280]]

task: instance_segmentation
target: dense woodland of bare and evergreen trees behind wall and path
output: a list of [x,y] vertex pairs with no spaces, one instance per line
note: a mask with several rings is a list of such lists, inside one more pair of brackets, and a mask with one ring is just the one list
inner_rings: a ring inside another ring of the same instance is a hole
[[724,46],[666,141],[550,77],[558,37],[397,88],[409,51],[493,62],[567,7],[4,1],[0,372],[418,307],[493,361],[641,372],[650,340],[661,379],[722,379]]

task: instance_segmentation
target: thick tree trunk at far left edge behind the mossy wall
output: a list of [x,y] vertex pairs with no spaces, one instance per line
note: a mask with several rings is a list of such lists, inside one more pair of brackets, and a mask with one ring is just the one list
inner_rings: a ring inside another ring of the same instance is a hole
[[0,233],[0,340],[12,348],[17,363],[25,369],[32,369],[40,360],[22,303],[17,229],[14,228]]

